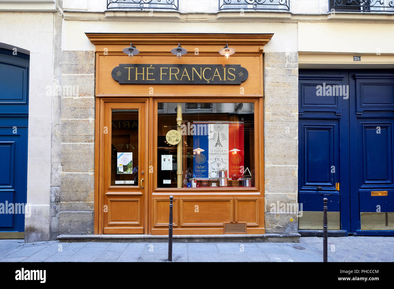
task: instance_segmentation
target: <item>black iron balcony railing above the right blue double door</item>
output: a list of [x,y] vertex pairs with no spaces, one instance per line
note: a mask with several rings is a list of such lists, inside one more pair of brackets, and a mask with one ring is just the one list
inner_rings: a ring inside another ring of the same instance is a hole
[[330,11],[394,12],[394,0],[330,0]]

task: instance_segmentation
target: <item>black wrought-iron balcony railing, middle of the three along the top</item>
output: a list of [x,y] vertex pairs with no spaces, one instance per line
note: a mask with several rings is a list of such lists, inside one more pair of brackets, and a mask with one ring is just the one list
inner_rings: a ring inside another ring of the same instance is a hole
[[290,11],[290,0],[219,0],[219,11],[241,9]]

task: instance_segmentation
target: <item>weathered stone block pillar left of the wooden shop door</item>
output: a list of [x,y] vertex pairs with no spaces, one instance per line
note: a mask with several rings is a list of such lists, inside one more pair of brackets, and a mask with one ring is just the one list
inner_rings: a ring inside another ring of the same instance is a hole
[[63,51],[59,234],[93,234],[95,52]]

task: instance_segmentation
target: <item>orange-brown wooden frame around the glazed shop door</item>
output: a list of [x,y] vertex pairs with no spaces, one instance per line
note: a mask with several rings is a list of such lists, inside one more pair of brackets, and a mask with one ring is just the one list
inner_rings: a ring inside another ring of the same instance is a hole
[[[119,102],[119,103],[145,103],[145,123],[146,127],[148,128],[147,133],[141,134],[139,136],[140,138],[145,138],[145,177],[144,177],[144,190],[145,190],[145,196],[144,196],[144,204],[143,204],[143,209],[144,209],[144,234],[147,234],[148,231],[148,201],[149,201],[149,177],[148,177],[148,172],[149,172],[149,166],[148,166],[148,160],[149,160],[149,151],[148,147],[149,145],[149,98],[135,98],[131,96],[124,96],[122,98],[119,97],[110,97],[110,96],[104,96],[104,97],[96,97],[96,118],[95,118],[95,214],[94,214],[94,234],[95,235],[102,235],[104,231],[104,224],[103,222],[103,210],[100,210],[100,208],[103,207],[103,191],[104,191],[104,183],[103,183],[103,174],[104,174],[104,169],[102,166],[103,158],[104,158],[104,105],[107,102]],[[98,172],[98,174],[97,174]]]

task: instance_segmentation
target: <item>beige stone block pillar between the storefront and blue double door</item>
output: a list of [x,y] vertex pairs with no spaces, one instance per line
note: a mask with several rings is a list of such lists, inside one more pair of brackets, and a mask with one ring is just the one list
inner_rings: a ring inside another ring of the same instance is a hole
[[[298,53],[264,53],[266,233],[297,233]],[[285,212],[281,211],[283,209]]]

